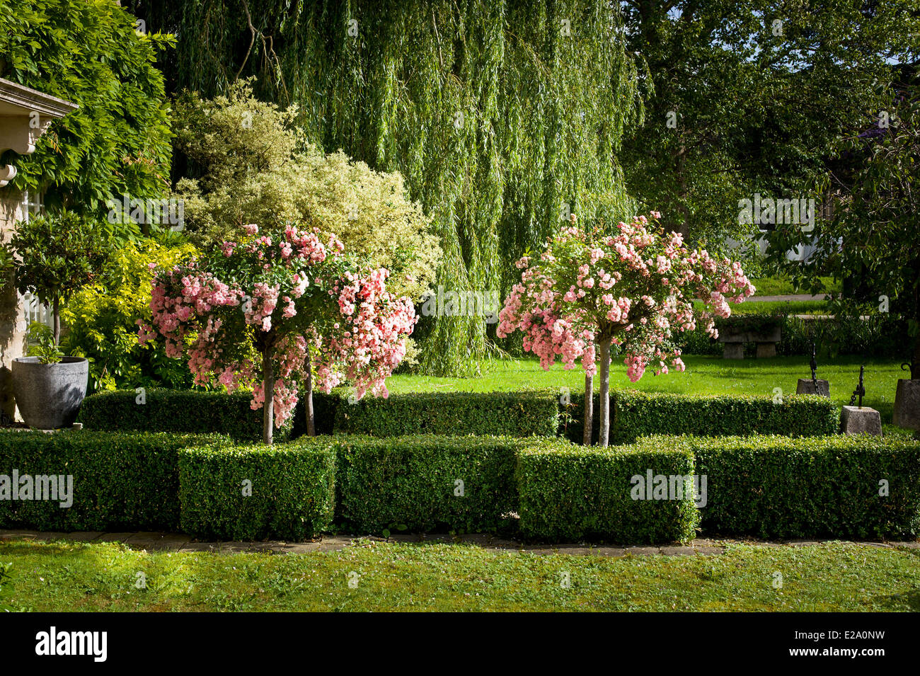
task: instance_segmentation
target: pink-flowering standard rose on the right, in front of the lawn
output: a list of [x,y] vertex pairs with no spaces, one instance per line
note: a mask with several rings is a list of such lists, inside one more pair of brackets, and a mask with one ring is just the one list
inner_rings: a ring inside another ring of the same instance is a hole
[[[550,237],[538,259],[521,258],[515,284],[499,314],[498,335],[523,332],[523,347],[549,369],[560,358],[566,369],[581,360],[585,377],[585,437],[591,443],[592,380],[600,361],[600,445],[610,437],[610,353],[624,356],[629,380],[647,369],[684,371],[673,347],[675,331],[704,326],[713,338],[715,317],[731,314],[754,292],[741,264],[690,250],[682,235],[665,233],[651,212],[619,223],[611,235],[571,223]],[[696,309],[694,299],[702,299]],[[599,354],[598,354],[599,353]]]

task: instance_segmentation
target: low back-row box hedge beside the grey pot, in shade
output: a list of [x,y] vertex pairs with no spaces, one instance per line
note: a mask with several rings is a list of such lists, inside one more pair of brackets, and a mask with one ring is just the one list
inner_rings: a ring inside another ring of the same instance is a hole
[[[78,420],[87,430],[220,433],[237,441],[261,441],[262,409],[250,407],[252,395],[238,392],[147,389],[144,404],[134,390],[87,396]],[[290,436],[290,421],[275,430],[275,439]]]

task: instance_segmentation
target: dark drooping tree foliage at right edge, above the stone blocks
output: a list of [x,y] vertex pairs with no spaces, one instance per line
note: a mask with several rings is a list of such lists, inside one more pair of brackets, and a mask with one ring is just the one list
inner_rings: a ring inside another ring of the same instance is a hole
[[[807,267],[791,272],[805,288],[815,286],[814,270],[845,280],[843,315],[899,316],[910,337],[900,357],[920,378],[920,76],[901,69],[903,80],[888,105],[862,120],[861,132],[845,139],[825,189],[834,193],[834,212],[805,235],[792,226],[771,233],[774,248],[785,250],[814,236]],[[857,125],[857,129],[858,129]]]

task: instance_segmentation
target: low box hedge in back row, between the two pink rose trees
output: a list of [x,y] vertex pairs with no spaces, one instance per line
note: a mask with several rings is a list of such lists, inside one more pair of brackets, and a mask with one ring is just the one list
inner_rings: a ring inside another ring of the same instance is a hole
[[436,392],[365,396],[339,403],[337,433],[397,437],[411,434],[553,437],[558,392]]

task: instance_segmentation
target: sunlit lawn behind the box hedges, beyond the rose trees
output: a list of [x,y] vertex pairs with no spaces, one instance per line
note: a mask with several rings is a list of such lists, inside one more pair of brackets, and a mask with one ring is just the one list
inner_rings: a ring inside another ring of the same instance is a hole
[[[780,387],[787,395],[794,394],[799,378],[810,378],[809,358],[775,357],[772,359],[728,361],[719,357],[684,357],[685,372],[652,375],[650,371],[638,383],[630,383],[622,359],[615,358],[611,366],[611,389],[634,388],[650,392],[695,393],[721,395],[737,392],[745,395],[773,395]],[[859,364],[866,365],[867,396],[863,405],[877,408],[883,421],[891,422],[894,391],[898,378],[905,373],[895,361],[862,360],[858,357],[838,357],[833,363],[818,365],[818,377],[831,383],[831,397],[841,406],[848,404],[859,379]],[[479,378],[434,378],[398,374],[386,381],[391,392],[493,392],[522,387],[569,387],[584,389],[581,367],[566,371],[556,364],[549,371],[535,359],[492,361],[483,363]],[[598,389],[594,379],[594,389]]]

